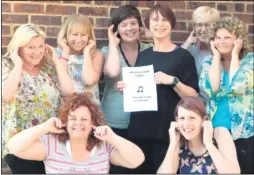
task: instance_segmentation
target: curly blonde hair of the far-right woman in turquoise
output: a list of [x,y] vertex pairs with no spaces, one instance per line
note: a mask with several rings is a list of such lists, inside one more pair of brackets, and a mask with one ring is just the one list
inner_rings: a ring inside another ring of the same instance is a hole
[[239,55],[240,59],[250,52],[248,32],[245,24],[241,20],[236,17],[224,17],[220,19],[212,27],[210,40],[214,40],[214,37],[219,29],[226,29],[230,33],[235,34],[237,38],[241,38],[243,40],[243,46]]

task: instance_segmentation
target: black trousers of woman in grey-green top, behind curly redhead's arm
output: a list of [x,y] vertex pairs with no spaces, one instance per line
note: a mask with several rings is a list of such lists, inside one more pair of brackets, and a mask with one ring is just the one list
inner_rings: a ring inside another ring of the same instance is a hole
[[[130,140],[128,138],[128,129],[111,128],[117,135]],[[115,166],[110,164],[109,174],[132,174],[132,169],[124,168],[121,166]]]

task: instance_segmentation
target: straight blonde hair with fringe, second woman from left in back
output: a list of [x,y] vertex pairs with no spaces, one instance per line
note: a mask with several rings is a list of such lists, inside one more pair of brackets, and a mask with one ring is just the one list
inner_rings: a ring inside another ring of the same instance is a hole
[[57,37],[58,47],[60,46],[59,43],[62,39],[67,40],[67,36],[70,34],[71,29],[74,25],[79,25],[83,27],[84,32],[88,35],[88,40],[92,39],[94,42],[96,42],[94,30],[89,18],[80,14],[72,14],[65,20],[60,29]]

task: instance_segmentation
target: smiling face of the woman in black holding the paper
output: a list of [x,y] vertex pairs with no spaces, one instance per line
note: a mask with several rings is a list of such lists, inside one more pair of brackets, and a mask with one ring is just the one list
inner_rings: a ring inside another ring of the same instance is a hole
[[172,26],[169,20],[161,15],[160,12],[153,12],[150,15],[149,29],[154,38],[162,39],[170,36]]

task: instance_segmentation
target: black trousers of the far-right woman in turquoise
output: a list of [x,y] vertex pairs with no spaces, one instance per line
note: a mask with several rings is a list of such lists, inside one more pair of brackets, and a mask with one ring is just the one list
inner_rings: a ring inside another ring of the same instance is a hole
[[241,174],[254,174],[253,149],[254,136],[247,139],[237,139],[234,141],[237,157],[241,168]]

